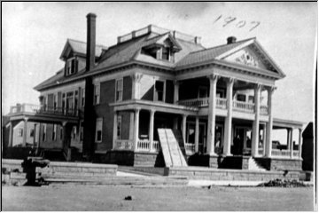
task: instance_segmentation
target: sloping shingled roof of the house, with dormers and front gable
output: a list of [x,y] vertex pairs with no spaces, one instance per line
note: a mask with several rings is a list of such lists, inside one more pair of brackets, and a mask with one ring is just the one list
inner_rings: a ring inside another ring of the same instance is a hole
[[[176,47],[175,62],[168,62],[165,60],[154,59],[152,56],[148,56],[141,53],[141,50],[149,45],[156,44],[161,45],[169,38]],[[163,34],[149,32],[143,36],[132,37],[131,39],[116,43],[113,46],[105,47],[104,45],[96,46],[96,57],[99,57],[96,67],[84,72],[84,69],[71,76],[64,76],[63,68],[58,71],[56,75],[51,76],[43,83],[35,86],[35,90],[41,91],[45,88],[58,85],[59,83],[65,83],[73,81],[74,79],[81,78],[82,75],[94,75],[95,73],[104,72],[107,69],[122,66],[130,62],[143,62],[151,66],[157,66],[169,69],[171,71],[180,70],[193,65],[201,63],[218,63],[222,61],[228,55],[245,48],[248,45],[253,44],[253,47],[262,54],[263,59],[266,59],[269,66],[274,67],[277,73],[274,76],[277,78],[283,77],[284,73],[276,66],[275,62],[268,56],[267,52],[261,48],[261,45],[256,41],[256,38],[248,38],[236,43],[222,44],[209,49],[203,47],[200,43],[193,41],[186,41],[178,37],[172,36],[172,32],[165,32]],[[64,50],[62,51],[61,58],[72,50],[75,53],[86,55],[86,43],[76,41],[74,39],[67,39]],[[243,67],[238,65],[238,67]],[[245,66],[244,66],[245,67]],[[265,74],[267,70],[264,71]]]

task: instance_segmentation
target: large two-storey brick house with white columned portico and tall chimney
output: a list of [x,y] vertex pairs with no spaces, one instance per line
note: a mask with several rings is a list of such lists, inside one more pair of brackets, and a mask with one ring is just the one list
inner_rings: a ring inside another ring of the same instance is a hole
[[[285,75],[256,38],[205,48],[198,36],[149,25],[105,47],[96,44],[96,15],[87,21],[87,42],[67,39],[65,66],[35,86],[41,106],[12,106],[9,147],[18,124],[21,146],[31,145],[27,123],[35,122],[35,146],[68,161],[157,166],[158,129],[166,128],[202,165],[246,169],[253,158],[267,170],[301,169],[302,123],[273,117],[275,83]],[[276,129],[287,130],[284,148],[272,142]]]

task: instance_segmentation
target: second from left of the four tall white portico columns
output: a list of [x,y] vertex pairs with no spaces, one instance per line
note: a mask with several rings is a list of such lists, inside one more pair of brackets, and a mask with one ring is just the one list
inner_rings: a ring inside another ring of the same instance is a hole
[[230,78],[227,82],[227,117],[225,118],[225,138],[222,154],[230,155],[231,127],[232,127],[232,107],[233,107],[233,86],[234,79]]

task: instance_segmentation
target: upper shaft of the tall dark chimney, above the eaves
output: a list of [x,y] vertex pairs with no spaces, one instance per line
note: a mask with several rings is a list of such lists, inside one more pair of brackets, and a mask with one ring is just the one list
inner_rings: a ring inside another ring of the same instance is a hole
[[85,68],[86,72],[91,70],[95,64],[96,18],[97,18],[97,15],[94,13],[89,13],[87,15],[88,34],[87,34],[86,68]]

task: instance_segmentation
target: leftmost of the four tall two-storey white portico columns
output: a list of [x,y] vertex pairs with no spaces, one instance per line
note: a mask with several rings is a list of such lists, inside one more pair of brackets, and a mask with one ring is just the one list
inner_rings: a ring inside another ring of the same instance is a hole
[[208,130],[207,130],[207,150],[209,155],[214,153],[214,132],[215,132],[215,114],[216,114],[216,86],[218,75],[209,75],[209,106],[208,106]]

